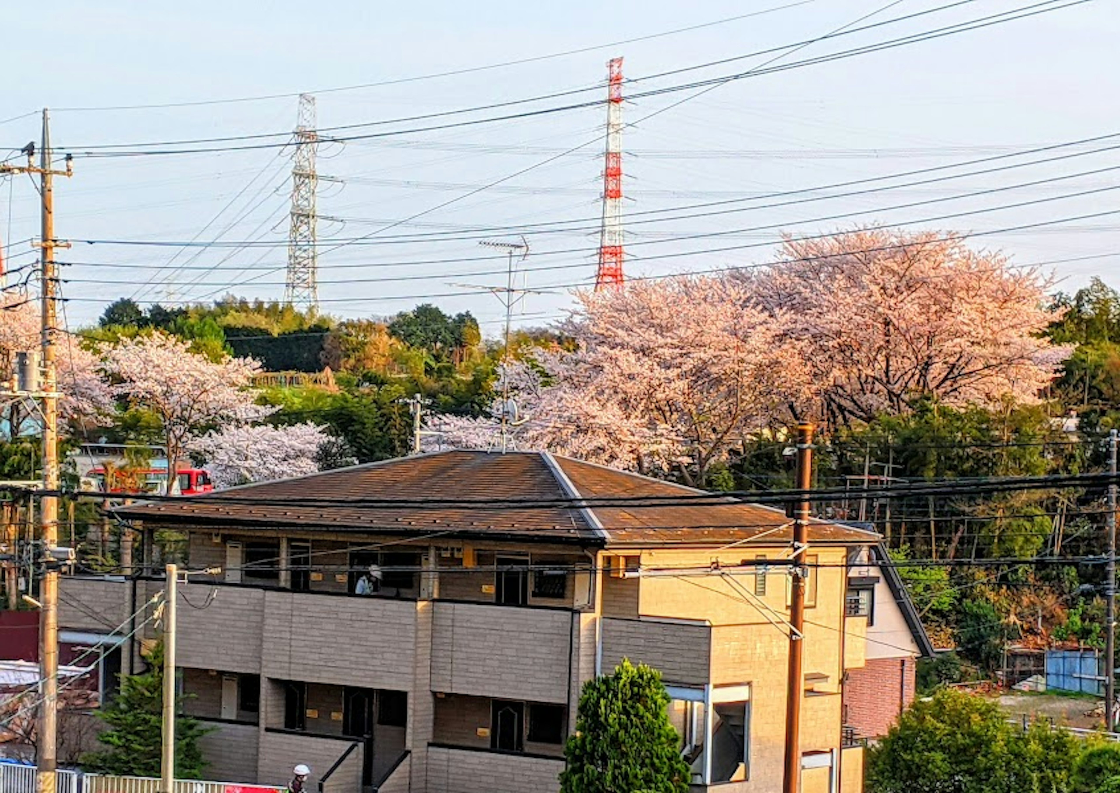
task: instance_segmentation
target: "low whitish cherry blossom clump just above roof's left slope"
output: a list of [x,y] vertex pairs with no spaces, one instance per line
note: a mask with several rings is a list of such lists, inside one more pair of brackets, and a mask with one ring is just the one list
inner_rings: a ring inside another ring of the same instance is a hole
[[332,440],[314,423],[234,426],[189,440],[187,450],[205,460],[217,487],[232,487],[314,474]]

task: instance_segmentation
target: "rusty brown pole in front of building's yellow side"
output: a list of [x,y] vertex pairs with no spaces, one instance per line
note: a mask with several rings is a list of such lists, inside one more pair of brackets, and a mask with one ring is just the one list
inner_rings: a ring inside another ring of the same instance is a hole
[[801,700],[804,697],[805,673],[805,552],[809,550],[809,488],[813,484],[813,425],[797,425],[797,472],[795,487],[801,498],[794,512],[793,559],[790,567],[790,665],[786,673],[785,699],[785,763],[782,776],[783,793],[801,791]]

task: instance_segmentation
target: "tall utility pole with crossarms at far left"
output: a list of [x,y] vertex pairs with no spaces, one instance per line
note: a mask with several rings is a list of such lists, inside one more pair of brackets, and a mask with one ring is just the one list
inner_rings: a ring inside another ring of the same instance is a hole
[[73,176],[74,166],[66,156],[66,169],[54,170],[50,150],[50,116],[43,110],[43,141],[39,165],[35,165],[35,144],[24,149],[26,166],[0,166],[4,174],[37,174],[41,197],[41,328],[43,328],[43,497],[39,506],[44,573],[39,586],[39,698],[36,765],[38,793],[54,793],[58,749],[58,568],[52,550],[58,544],[58,377],[55,366],[55,333],[57,330],[58,272],[55,249],[68,244],[55,240],[54,177]]

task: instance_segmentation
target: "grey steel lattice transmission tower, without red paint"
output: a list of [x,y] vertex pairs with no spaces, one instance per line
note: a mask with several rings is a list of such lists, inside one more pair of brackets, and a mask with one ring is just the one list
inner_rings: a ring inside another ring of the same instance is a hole
[[296,156],[291,168],[291,225],[288,228],[288,277],[283,299],[286,304],[310,311],[319,309],[315,230],[315,192],[319,184],[315,152],[318,146],[315,97],[300,94]]

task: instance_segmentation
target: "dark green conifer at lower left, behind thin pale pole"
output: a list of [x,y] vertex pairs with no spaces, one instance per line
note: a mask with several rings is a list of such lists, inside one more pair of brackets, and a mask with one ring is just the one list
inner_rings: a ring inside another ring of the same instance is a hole
[[[106,729],[97,740],[105,748],[82,758],[82,768],[99,774],[159,776],[162,743],[164,644],[157,644],[147,657],[142,674],[121,675],[121,690],[106,708],[97,710]],[[176,710],[181,712],[180,697]],[[175,775],[199,780],[206,768],[198,739],[211,728],[189,716],[175,719]]]

